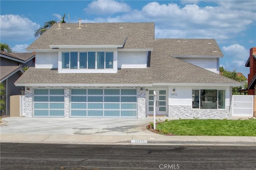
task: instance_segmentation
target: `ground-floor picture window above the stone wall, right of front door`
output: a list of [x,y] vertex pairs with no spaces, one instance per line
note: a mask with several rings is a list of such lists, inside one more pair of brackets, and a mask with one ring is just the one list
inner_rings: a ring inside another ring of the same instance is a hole
[[225,90],[192,90],[192,108],[194,109],[225,109],[225,99]]

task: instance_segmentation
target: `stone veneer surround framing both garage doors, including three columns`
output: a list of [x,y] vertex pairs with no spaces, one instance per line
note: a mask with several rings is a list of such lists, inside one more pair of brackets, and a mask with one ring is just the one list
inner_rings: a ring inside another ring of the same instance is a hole
[[[26,89],[29,88],[29,91]],[[40,88],[64,88],[64,117],[69,118],[70,117],[70,89],[71,88],[136,88],[137,89],[137,114],[138,118],[144,118],[146,117],[146,91],[145,88],[143,88],[143,91],[140,92],[140,87],[131,87],[131,86],[126,86],[126,87],[83,87],[83,86],[75,86],[75,87],[70,87],[70,86],[33,86],[25,87],[25,117],[33,117],[33,101],[34,101],[34,89],[40,89]]]

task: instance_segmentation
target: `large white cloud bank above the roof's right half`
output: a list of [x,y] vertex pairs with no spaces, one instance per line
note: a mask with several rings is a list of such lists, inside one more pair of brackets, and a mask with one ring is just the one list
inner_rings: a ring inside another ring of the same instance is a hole
[[221,1],[216,6],[189,3],[181,7],[175,3],[149,2],[141,10],[132,10],[115,17],[98,17],[93,21],[155,22],[156,38],[213,38],[218,42],[231,41],[231,38],[244,33],[248,25],[255,22],[256,15],[255,9],[242,8],[244,5],[255,7],[255,1],[232,3]]

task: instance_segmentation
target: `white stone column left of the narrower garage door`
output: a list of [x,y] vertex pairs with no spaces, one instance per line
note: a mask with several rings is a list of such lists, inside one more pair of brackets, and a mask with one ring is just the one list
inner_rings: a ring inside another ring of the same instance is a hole
[[[27,90],[29,89],[29,90]],[[34,89],[32,87],[25,87],[25,104],[24,111],[25,117],[33,117],[33,97],[34,97]]]

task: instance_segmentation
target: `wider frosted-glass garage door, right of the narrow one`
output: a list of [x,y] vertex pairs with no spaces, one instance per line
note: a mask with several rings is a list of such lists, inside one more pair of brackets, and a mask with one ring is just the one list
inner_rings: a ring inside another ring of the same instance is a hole
[[70,117],[137,117],[136,89],[71,89]]

